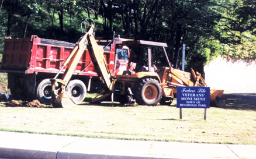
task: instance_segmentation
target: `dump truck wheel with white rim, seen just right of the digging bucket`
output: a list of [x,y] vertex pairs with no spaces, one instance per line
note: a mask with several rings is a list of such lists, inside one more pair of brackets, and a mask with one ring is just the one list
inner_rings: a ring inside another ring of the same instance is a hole
[[66,91],[72,96],[72,99],[76,103],[81,103],[84,101],[84,98],[87,95],[87,87],[85,86],[84,82],[78,79],[71,80],[68,83]]

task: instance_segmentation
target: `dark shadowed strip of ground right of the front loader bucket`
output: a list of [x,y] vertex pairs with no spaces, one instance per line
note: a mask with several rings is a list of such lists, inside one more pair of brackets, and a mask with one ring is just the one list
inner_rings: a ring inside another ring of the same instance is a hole
[[224,109],[238,109],[256,111],[256,93],[224,94],[226,103]]

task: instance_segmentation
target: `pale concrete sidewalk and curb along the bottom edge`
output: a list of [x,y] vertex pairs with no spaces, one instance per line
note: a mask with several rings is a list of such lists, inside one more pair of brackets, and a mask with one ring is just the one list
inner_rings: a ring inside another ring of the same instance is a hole
[[256,145],[92,139],[0,132],[0,158],[256,158]]

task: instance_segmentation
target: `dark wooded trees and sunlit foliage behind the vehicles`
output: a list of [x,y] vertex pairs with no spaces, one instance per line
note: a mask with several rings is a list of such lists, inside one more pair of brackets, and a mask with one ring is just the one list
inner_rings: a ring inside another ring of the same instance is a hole
[[[0,0],[0,52],[5,36],[75,42],[90,17],[97,32],[168,44],[176,63],[186,44],[186,66],[202,69],[217,55],[255,58],[256,2],[242,0]],[[165,63],[157,52],[158,63]],[[181,60],[178,60],[181,64]]]

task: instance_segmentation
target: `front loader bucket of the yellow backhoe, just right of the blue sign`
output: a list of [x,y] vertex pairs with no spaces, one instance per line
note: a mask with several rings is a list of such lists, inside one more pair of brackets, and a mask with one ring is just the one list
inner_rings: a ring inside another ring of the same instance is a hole
[[225,107],[225,101],[223,100],[224,90],[210,90],[210,106]]

